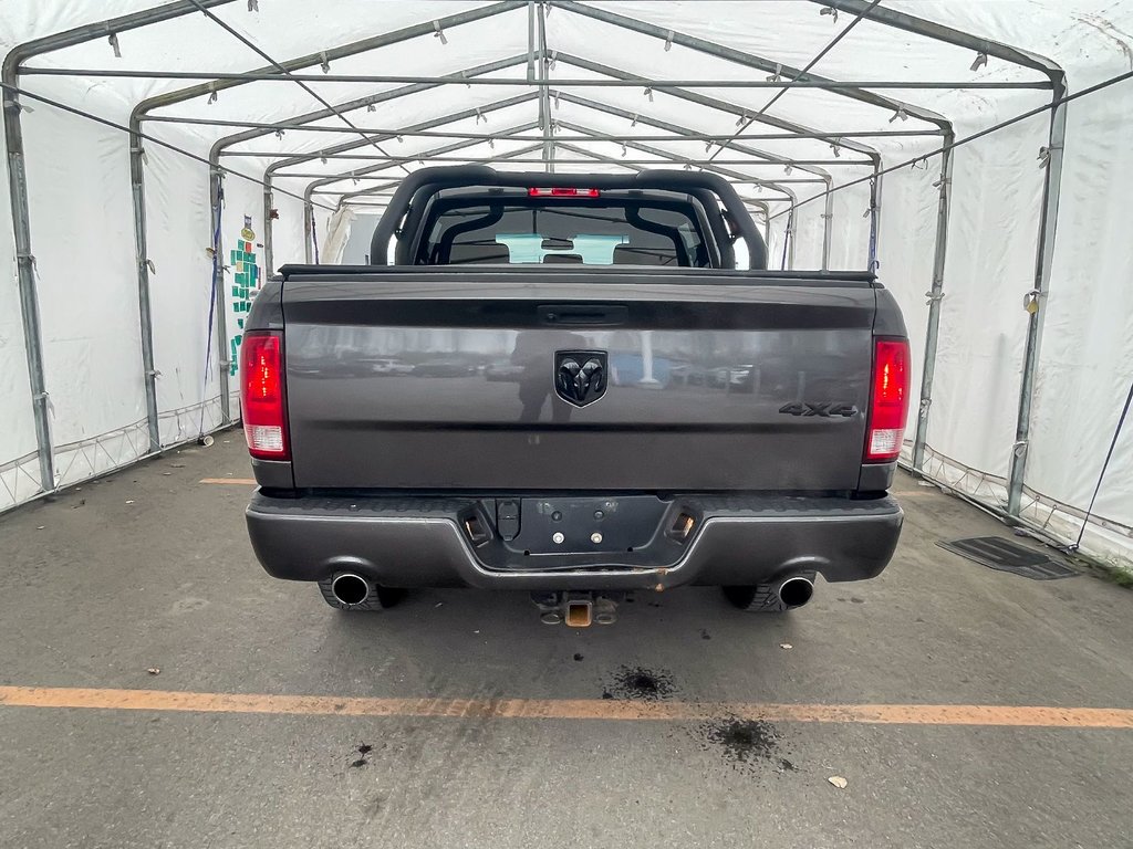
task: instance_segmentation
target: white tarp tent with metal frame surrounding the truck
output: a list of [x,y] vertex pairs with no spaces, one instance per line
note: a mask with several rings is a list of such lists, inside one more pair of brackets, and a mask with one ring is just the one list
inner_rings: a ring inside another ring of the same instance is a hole
[[[365,259],[399,177],[553,161],[715,170],[772,267],[875,265],[905,461],[1083,528],[1133,379],[1133,0],[7,0],[0,52],[0,509],[231,421],[261,275]],[[1133,561],[1133,427],[1089,515]]]

